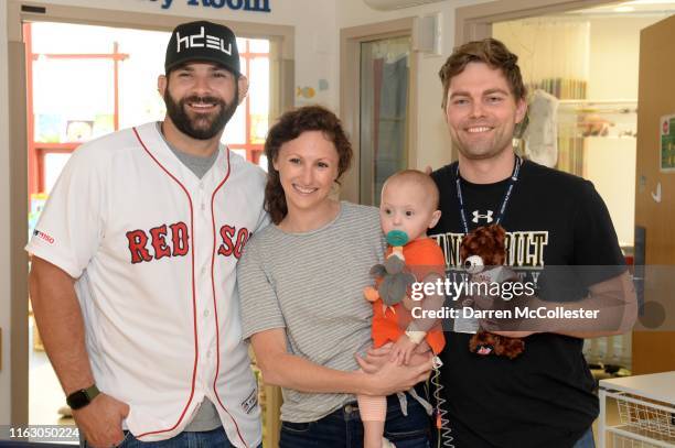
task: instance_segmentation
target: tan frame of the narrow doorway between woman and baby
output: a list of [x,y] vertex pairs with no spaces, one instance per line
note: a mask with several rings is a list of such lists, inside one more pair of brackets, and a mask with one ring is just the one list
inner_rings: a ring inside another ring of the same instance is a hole
[[[340,197],[360,203],[361,196],[361,48],[363,42],[409,35],[413,39],[415,18],[371,23],[340,30],[340,116],[344,130],[350,135],[354,156],[352,167],[344,174]],[[410,48],[408,75],[408,165],[417,161],[417,57]]]

